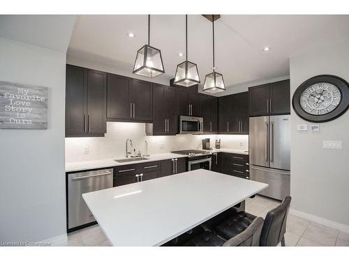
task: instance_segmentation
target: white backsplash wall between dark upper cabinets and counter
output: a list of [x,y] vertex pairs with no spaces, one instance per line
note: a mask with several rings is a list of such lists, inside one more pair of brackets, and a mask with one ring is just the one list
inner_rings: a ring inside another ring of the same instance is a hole
[[[202,139],[210,138],[214,148],[215,139],[221,138],[222,148],[248,150],[247,135],[177,135],[146,136],[144,123],[107,122],[107,134],[98,138],[66,138],[66,162],[125,157],[126,139],[132,139],[136,152],[145,153],[148,142],[150,154],[172,150],[202,149]],[[88,148],[89,154],[85,154]]]

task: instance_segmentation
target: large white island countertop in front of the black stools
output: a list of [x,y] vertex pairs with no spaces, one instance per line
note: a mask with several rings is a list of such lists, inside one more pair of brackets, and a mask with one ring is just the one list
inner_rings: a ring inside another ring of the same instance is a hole
[[159,246],[266,187],[198,169],[82,198],[113,246]]

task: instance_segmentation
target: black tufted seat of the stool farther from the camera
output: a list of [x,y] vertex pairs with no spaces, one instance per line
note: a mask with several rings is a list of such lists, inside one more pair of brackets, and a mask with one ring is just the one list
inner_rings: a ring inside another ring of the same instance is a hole
[[216,226],[216,234],[228,240],[246,230],[255,218],[252,214],[237,212]]

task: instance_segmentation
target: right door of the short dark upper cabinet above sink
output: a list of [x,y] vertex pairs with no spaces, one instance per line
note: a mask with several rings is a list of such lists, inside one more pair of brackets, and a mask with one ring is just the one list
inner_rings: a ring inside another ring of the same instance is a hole
[[148,81],[133,79],[132,96],[133,120],[151,122],[153,119],[152,86]]

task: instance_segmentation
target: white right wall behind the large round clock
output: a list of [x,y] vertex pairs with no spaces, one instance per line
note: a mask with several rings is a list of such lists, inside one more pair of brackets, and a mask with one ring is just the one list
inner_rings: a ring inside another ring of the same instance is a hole
[[[334,74],[349,81],[348,68],[349,42],[290,58],[291,97],[302,82],[318,74]],[[298,124],[311,122],[293,110],[291,122],[292,209],[349,230],[349,111],[320,123],[319,133],[297,132]],[[325,150],[324,140],[342,141],[343,149]]]

